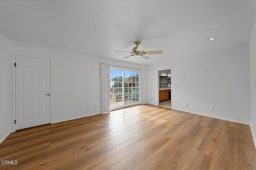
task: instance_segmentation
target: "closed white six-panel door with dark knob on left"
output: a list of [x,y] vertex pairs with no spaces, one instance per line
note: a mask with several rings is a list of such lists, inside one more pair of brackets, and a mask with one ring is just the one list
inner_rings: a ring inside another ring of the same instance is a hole
[[16,130],[50,123],[50,60],[16,56]]

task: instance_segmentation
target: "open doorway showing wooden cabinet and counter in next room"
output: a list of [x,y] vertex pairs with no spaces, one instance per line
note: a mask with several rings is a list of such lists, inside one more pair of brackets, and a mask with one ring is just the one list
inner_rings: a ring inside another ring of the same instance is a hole
[[158,70],[158,106],[172,108],[172,69]]

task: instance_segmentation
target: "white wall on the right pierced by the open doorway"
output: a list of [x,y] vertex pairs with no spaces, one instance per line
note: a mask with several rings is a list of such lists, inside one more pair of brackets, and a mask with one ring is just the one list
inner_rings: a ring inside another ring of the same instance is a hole
[[172,68],[173,109],[250,123],[248,45],[148,66],[150,104],[158,104],[157,70],[165,68]]

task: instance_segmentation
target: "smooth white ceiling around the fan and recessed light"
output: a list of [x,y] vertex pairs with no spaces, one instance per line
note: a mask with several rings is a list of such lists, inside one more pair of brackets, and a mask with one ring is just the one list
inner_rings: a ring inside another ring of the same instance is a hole
[[[11,40],[140,64],[248,44],[256,1],[0,1]],[[208,41],[216,37],[214,41]],[[162,55],[122,59],[140,40]]]

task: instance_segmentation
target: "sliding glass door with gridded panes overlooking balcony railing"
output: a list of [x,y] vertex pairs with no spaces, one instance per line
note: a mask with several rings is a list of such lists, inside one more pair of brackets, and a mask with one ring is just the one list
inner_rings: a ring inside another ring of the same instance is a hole
[[140,72],[110,69],[110,110],[140,104]]

